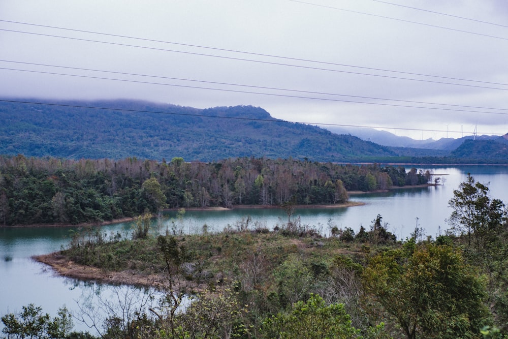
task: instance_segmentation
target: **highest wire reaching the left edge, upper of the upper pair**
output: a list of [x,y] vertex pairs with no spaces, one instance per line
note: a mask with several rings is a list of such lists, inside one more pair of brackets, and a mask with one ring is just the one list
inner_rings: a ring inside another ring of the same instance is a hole
[[[481,80],[454,78],[454,77],[447,77],[447,76],[440,76],[440,75],[431,75],[431,74],[423,74],[423,73],[414,73],[414,72],[403,72],[403,71],[387,70],[387,69],[382,69],[382,68],[355,66],[355,65],[347,65],[347,64],[339,64],[339,63],[330,63],[330,62],[327,62],[327,61],[318,61],[318,60],[302,59],[302,58],[280,56],[280,55],[273,55],[273,54],[246,52],[246,51],[240,51],[240,50],[234,50],[234,49],[225,49],[225,48],[217,48],[217,47],[209,47],[209,46],[183,44],[183,43],[177,43],[177,42],[171,42],[171,41],[163,41],[163,40],[154,40],[154,39],[148,39],[148,38],[139,38],[139,37],[124,36],[124,35],[108,34],[108,33],[101,33],[101,32],[93,32],[93,31],[90,31],[90,30],[73,29],[73,28],[48,26],[48,25],[40,25],[40,24],[27,23],[27,22],[9,21],[9,20],[1,20],[1,19],[0,19],[0,22],[16,23],[16,24],[30,25],[30,26],[36,26],[36,27],[62,29],[62,30],[69,30],[71,32],[97,34],[97,35],[103,35],[103,36],[109,36],[109,37],[135,39],[135,40],[141,40],[141,41],[149,41],[149,42],[156,42],[156,43],[172,44],[172,45],[185,46],[185,47],[204,48],[204,49],[211,49],[211,50],[217,50],[217,51],[241,53],[241,54],[264,56],[264,57],[273,57],[273,58],[287,59],[287,60],[293,60],[293,61],[304,61],[304,62],[315,63],[315,64],[341,66],[341,67],[351,67],[351,68],[359,68],[359,69],[365,69],[365,70],[371,70],[371,71],[382,71],[382,72],[391,72],[391,73],[398,73],[398,74],[418,75],[418,76],[425,76],[425,77],[432,77],[432,78],[441,78],[441,79],[448,79],[448,80],[459,80],[459,81],[479,82],[479,83],[486,83],[486,84],[492,84],[492,85],[506,85],[506,86],[508,86],[508,84],[506,84],[506,83],[497,83],[497,82],[489,82],[489,81],[481,81]],[[3,29],[0,29],[0,30],[3,30]],[[14,32],[16,32],[16,31],[14,31]],[[30,34],[28,32],[21,32],[21,33]],[[139,46],[139,47],[142,47],[142,46]],[[285,65],[285,66],[287,66],[287,65]]]

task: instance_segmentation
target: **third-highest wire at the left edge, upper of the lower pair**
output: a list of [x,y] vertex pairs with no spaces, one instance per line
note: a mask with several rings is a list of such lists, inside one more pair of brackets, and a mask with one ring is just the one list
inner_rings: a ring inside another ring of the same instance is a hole
[[[81,68],[81,67],[69,67],[69,66],[57,66],[57,65],[38,64],[38,63],[27,63],[27,62],[23,62],[23,61],[13,61],[13,60],[3,60],[3,59],[0,59],[0,61],[2,61],[4,63],[13,63],[13,64],[22,64],[22,65],[55,67],[55,68],[63,68],[63,69],[71,69],[71,70],[79,70],[79,71],[92,71],[92,72],[102,72],[102,73],[111,73],[111,74],[120,74],[120,75],[132,75],[132,76],[140,76],[140,77],[158,78],[158,79],[169,79],[169,80],[201,82],[201,83],[210,83],[210,84],[218,84],[218,85],[228,85],[228,86],[239,86],[239,87],[270,89],[270,90],[281,90],[281,91],[290,91],[290,92],[296,92],[296,93],[306,93],[306,94],[316,94],[316,95],[327,95],[327,96],[338,96],[338,97],[371,99],[371,100],[383,100],[383,101],[395,101],[395,102],[405,102],[405,103],[412,103],[412,104],[440,105],[440,106],[450,106],[450,107],[480,108],[480,109],[491,109],[491,110],[508,111],[508,108],[493,108],[493,107],[481,107],[481,106],[453,105],[453,104],[431,103],[431,102],[424,102],[424,101],[411,101],[411,100],[400,100],[400,99],[387,99],[387,98],[375,98],[375,97],[365,97],[365,96],[353,96],[353,95],[334,94],[334,93],[316,92],[316,91],[308,91],[308,90],[277,88],[277,87],[267,87],[267,86],[254,86],[254,85],[245,85],[245,84],[237,84],[237,83],[217,82],[217,81],[205,81],[205,80],[195,80],[195,79],[185,79],[185,78],[174,78],[174,77],[165,77],[165,76],[160,76],[160,75],[147,75],[147,74],[137,74],[137,73],[115,72],[115,71],[97,70],[97,69],[89,69],[89,68]],[[2,69],[2,68],[0,68],[0,69]],[[15,69],[10,69],[10,70],[15,70]],[[24,71],[29,71],[29,70],[24,70]],[[108,80],[110,80],[110,79],[108,79]],[[118,79],[118,80],[120,80],[120,79]],[[471,111],[471,112],[478,112],[478,111]],[[484,112],[478,112],[478,113],[484,113]]]

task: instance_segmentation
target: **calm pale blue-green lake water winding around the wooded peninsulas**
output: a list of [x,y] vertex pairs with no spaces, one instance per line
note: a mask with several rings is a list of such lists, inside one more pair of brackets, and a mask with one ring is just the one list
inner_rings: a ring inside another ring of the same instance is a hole
[[[424,167],[444,178],[438,187],[418,189],[398,189],[388,193],[363,194],[352,196],[351,200],[365,203],[337,209],[297,209],[293,218],[300,218],[302,225],[313,226],[324,234],[330,227],[351,227],[357,232],[361,225],[368,229],[377,214],[388,223],[388,230],[398,239],[404,239],[414,231],[416,218],[425,229],[425,234],[435,237],[448,228],[444,221],[451,210],[448,201],[453,190],[465,181],[470,172],[477,181],[490,182],[493,198],[508,203],[508,167],[506,166],[463,166],[463,167]],[[287,214],[280,209],[241,209],[231,211],[187,211],[182,220],[176,212],[170,212],[161,231],[168,228],[184,233],[197,233],[203,225],[209,232],[221,231],[239,223],[250,216],[249,227],[267,227],[287,222]],[[35,303],[43,306],[44,312],[56,314],[58,307],[65,304],[77,311],[77,302],[83,302],[91,295],[111,294],[111,287],[98,284],[84,284],[75,280],[54,276],[51,270],[31,259],[31,256],[58,251],[69,243],[71,228],[0,228],[0,315],[18,312],[22,305]],[[117,224],[104,226],[104,234],[120,232],[128,236],[131,225]],[[76,322],[75,322],[76,323]],[[86,326],[76,323],[76,328],[85,330]]]

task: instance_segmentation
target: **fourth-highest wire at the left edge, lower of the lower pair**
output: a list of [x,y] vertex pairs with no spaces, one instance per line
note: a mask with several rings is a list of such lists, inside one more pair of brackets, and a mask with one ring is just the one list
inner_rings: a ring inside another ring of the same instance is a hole
[[225,92],[230,92],[230,93],[257,94],[257,95],[272,96],[272,97],[322,100],[322,101],[345,102],[345,103],[366,104],[366,105],[379,105],[379,106],[390,106],[390,107],[403,107],[403,108],[419,108],[419,109],[431,109],[431,110],[440,110],[440,111],[454,111],[454,112],[471,112],[471,113],[486,113],[486,114],[508,115],[508,113],[502,113],[502,112],[472,111],[472,110],[439,108],[439,107],[421,107],[421,106],[411,106],[411,105],[384,104],[384,103],[374,103],[374,102],[355,101],[355,100],[343,100],[343,99],[333,99],[333,98],[304,97],[304,96],[296,96],[296,95],[275,94],[275,93],[262,93],[262,92],[247,91],[247,90],[237,90],[237,89],[225,89],[225,88],[213,88],[213,87],[177,85],[177,84],[150,82],[150,81],[140,81],[140,80],[115,79],[115,78],[104,78],[104,77],[88,76],[88,75],[66,74],[66,73],[56,73],[56,72],[44,72],[44,71],[34,71],[34,70],[21,70],[21,69],[6,68],[6,67],[0,67],[0,70],[19,71],[19,72],[28,72],[28,73],[39,73],[39,74],[50,74],[50,75],[65,75],[65,76],[72,76],[72,77],[78,77],[78,78],[123,81],[123,82],[142,83],[142,84],[151,84],[151,85],[164,85],[164,86],[172,86],[172,87],[206,89],[206,90],[218,90],[218,91],[225,91]]

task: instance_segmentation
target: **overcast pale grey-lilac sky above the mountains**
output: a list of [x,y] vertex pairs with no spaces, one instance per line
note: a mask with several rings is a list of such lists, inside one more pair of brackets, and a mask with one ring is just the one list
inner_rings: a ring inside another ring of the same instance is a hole
[[505,0],[1,0],[0,97],[252,105],[414,139],[508,132]]

